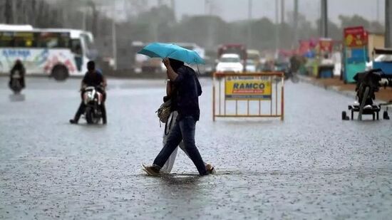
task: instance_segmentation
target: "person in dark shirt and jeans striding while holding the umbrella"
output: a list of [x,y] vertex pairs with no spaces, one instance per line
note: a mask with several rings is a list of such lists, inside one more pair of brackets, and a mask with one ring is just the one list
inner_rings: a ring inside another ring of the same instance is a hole
[[[143,50],[139,53],[143,53]],[[163,58],[163,63],[167,68],[168,80],[177,89],[176,108],[178,116],[175,125],[170,130],[165,146],[155,158],[153,165],[143,165],[143,169],[149,175],[158,175],[172,152],[183,141],[185,150],[199,174],[201,176],[210,174],[214,172],[214,168],[210,164],[205,165],[195,145],[196,122],[200,117],[199,96],[202,94],[202,88],[195,70],[174,58]]]

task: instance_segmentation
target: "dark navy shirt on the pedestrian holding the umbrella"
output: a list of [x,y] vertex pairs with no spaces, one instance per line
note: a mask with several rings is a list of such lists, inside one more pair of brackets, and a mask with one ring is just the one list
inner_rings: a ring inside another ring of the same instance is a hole
[[202,95],[202,86],[195,70],[188,66],[180,67],[177,74],[173,82],[177,88],[177,120],[192,116],[197,121],[200,118],[199,96]]

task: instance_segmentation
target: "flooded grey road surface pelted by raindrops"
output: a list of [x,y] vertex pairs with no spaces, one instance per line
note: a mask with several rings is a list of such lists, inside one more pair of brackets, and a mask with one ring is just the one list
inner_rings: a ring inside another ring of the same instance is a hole
[[287,83],[286,117],[212,122],[202,80],[196,142],[218,174],[179,153],[147,177],[162,145],[163,80],[109,80],[108,125],[70,125],[79,80],[0,78],[0,219],[390,219],[392,122],[341,121],[351,101]]

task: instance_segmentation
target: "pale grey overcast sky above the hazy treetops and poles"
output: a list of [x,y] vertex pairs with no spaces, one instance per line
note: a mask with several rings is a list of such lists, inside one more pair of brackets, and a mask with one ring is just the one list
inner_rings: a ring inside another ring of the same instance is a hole
[[[156,5],[158,0],[149,0],[150,5]],[[170,3],[170,0],[163,0]],[[248,0],[207,0],[212,1],[215,10],[212,14],[221,16],[226,21],[247,19]],[[281,0],[279,0],[280,2]],[[293,11],[294,0],[284,0],[285,11]],[[275,18],[275,0],[252,0],[252,15],[254,19],[267,16]],[[385,0],[329,0],[329,19],[339,22],[338,16],[359,14],[366,19],[384,20]],[[377,4],[379,5],[377,16]],[[181,19],[184,14],[195,15],[205,13],[205,0],[175,0],[177,18]],[[315,21],[320,14],[320,0],[299,0],[299,12],[307,19]],[[280,13],[280,12],[279,12]],[[279,14],[280,18],[280,14]]]

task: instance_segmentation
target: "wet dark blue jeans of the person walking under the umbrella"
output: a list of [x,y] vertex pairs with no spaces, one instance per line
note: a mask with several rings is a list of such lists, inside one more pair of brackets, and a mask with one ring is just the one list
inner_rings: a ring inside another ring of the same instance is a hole
[[175,125],[172,127],[172,130],[170,130],[165,146],[158,156],[155,157],[154,164],[158,167],[163,167],[167,159],[169,159],[172,152],[182,140],[184,142],[185,150],[190,159],[192,159],[192,162],[195,164],[199,174],[201,176],[207,174],[202,156],[195,145],[195,129],[196,121],[192,116],[177,120]]

